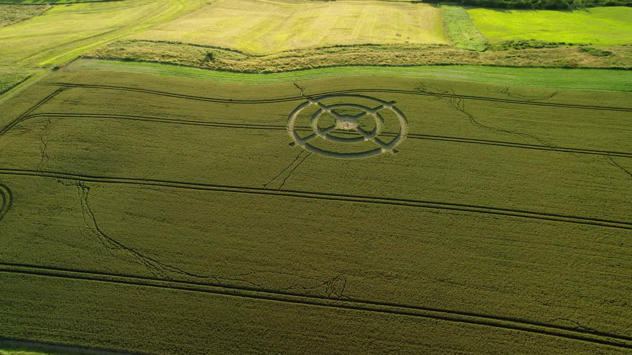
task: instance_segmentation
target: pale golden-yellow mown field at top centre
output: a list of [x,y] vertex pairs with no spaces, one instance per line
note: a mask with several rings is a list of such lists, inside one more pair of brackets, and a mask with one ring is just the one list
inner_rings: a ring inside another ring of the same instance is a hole
[[339,44],[446,43],[441,9],[385,1],[217,0],[135,38],[253,54]]

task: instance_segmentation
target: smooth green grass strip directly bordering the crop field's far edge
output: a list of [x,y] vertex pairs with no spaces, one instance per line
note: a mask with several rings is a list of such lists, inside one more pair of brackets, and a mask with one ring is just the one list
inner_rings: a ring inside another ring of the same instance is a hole
[[288,83],[344,75],[408,76],[456,81],[473,81],[521,87],[552,87],[588,90],[632,91],[632,71],[612,69],[502,68],[485,66],[349,66],[308,69],[284,73],[247,74],[185,66],[104,59],[78,59],[64,70],[122,71],[171,75],[224,83]]

